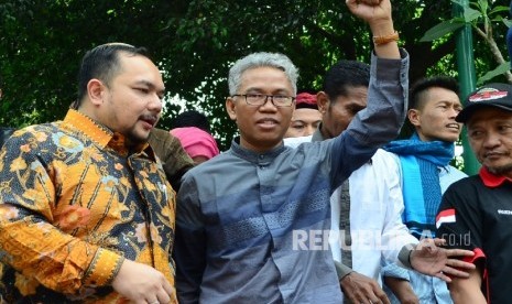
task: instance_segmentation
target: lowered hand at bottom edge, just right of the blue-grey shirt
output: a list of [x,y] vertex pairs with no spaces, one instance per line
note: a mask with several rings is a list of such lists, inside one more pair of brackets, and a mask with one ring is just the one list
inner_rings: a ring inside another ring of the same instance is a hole
[[355,271],[345,275],[339,283],[344,294],[351,303],[390,303],[375,280]]

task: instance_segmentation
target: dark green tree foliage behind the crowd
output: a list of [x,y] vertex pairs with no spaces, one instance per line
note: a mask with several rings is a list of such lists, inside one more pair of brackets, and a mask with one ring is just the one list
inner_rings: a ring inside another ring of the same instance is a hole
[[[428,74],[456,76],[455,42],[421,42],[451,19],[448,0],[394,0],[401,45],[411,55],[411,82]],[[492,6],[506,6],[493,1]],[[504,50],[506,26],[494,24]],[[61,119],[76,96],[84,52],[121,41],[146,46],[160,64],[168,99],[162,128],[185,109],[200,109],[226,148],[236,126],[225,112],[230,65],[255,51],[281,52],[299,67],[301,89],[320,89],[338,59],[369,62],[367,25],[340,0],[7,0],[0,3],[0,73],[4,82],[0,126],[21,127]],[[495,65],[476,39],[477,70]],[[174,100],[174,99],[173,99]]]

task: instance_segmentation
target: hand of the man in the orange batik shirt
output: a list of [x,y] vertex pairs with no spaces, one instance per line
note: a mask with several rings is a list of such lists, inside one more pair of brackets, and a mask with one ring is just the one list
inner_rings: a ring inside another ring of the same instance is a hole
[[134,303],[170,303],[173,286],[162,272],[146,264],[124,260],[112,287]]

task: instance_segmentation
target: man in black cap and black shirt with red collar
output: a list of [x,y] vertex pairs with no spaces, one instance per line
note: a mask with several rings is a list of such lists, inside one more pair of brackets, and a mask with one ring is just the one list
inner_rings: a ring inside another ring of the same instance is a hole
[[512,289],[512,86],[490,84],[467,100],[456,120],[482,164],[478,175],[454,183],[443,196],[437,235],[450,248],[472,250],[477,267],[454,279],[455,303],[510,303]]

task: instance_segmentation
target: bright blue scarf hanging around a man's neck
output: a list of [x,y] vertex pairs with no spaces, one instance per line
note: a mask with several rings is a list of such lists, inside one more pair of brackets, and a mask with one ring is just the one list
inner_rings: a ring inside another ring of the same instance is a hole
[[442,198],[438,167],[449,164],[455,155],[455,144],[422,141],[414,133],[408,140],[389,143],[384,150],[397,154],[402,165],[404,224],[418,239],[434,237]]

